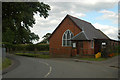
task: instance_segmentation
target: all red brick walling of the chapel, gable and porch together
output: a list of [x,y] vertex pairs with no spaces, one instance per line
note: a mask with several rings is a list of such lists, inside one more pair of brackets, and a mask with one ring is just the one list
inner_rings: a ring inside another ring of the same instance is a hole
[[[69,17],[66,17],[50,38],[49,52],[52,57],[70,57],[71,55],[76,54],[75,50],[72,49],[72,47],[62,46],[62,36],[64,32],[68,29],[74,34],[74,36],[81,32],[81,29],[79,29],[71,21],[71,19],[69,19]],[[85,55],[94,54],[94,48],[91,48],[91,41],[83,41],[83,54]],[[81,54],[79,53],[79,55]]]

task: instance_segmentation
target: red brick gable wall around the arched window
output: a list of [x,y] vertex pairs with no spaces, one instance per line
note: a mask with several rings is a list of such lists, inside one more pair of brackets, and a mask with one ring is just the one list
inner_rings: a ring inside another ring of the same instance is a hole
[[67,29],[69,29],[74,36],[81,32],[81,30],[66,17],[50,38],[50,54],[53,57],[70,57],[72,47],[62,46],[62,35]]

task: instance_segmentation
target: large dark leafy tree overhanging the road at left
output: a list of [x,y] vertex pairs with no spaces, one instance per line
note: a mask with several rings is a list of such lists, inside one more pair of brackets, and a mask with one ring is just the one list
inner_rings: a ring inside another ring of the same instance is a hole
[[2,3],[2,41],[10,43],[31,43],[39,40],[30,31],[35,24],[34,14],[47,18],[50,6],[43,2],[3,2]]

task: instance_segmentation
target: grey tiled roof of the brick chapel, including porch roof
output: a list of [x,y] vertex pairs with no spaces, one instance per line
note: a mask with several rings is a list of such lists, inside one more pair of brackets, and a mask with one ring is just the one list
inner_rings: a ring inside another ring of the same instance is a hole
[[72,40],[109,39],[108,36],[96,29],[91,23],[70,15],[68,15],[68,17],[82,30],[82,32],[74,36]]

